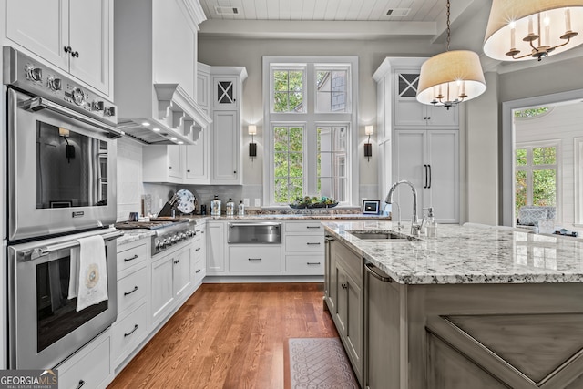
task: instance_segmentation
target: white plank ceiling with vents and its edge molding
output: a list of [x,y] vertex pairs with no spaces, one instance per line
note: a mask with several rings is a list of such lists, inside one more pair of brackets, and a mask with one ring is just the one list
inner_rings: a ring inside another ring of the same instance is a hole
[[[487,19],[492,0],[453,0],[452,28],[477,12]],[[445,41],[445,0],[200,0],[214,36]],[[480,32],[478,40],[484,38]]]

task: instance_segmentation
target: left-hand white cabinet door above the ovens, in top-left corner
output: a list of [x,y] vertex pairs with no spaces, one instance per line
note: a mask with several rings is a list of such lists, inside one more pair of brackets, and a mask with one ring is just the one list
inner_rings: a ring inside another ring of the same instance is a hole
[[6,0],[6,37],[66,71],[68,20],[68,0]]

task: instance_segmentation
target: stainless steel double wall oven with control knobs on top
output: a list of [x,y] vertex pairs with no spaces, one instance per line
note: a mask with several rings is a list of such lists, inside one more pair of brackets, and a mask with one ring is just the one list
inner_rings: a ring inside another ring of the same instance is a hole
[[[8,366],[55,367],[117,317],[116,107],[4,47]],[[101,235],[108,300],[68,299],[78,240]]]

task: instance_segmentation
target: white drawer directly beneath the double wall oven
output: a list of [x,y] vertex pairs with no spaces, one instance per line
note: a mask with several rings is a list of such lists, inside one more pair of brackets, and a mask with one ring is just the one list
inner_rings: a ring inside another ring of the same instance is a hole
[[68,365],[65,369],[57,366],[58,369],[58,387],[63,389],[77,388],[83,384],[86,388],[102,387],[104,380],[110,375],[109,366],[109,349],[110,336],[105,338],[97,338],[95,343],[89,343],[82,349],[79,354],[76,354],[72,359],[76,359],[77,355],[83,353],[86,348],[92,348],[88,353],[79,356],[76,362]]

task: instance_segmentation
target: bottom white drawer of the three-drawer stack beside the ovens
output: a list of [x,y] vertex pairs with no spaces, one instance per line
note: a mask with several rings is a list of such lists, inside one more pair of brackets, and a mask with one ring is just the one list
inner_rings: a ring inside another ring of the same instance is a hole
[[139,305],[121,322],[112,327],[112,356],[117,367],[122,363],[146,336],[148,329],[148,309],[146,302]]

